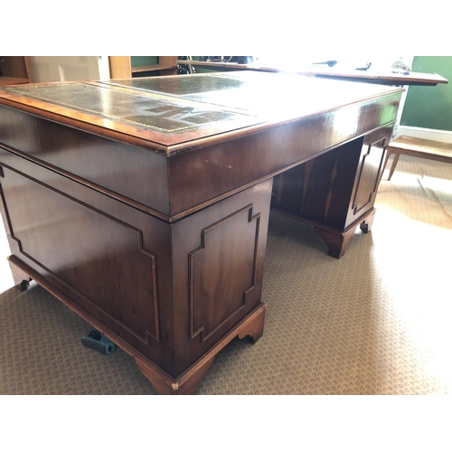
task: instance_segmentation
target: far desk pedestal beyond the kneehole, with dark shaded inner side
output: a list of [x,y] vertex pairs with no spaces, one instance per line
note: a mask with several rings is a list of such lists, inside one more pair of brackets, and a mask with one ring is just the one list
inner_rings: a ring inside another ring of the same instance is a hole
[[340,259],[356,227],[370,231],[373,204],[384,170],[392,125],[320,155],[305,165],[278,174],[272,206],[314,226],[328,254]]

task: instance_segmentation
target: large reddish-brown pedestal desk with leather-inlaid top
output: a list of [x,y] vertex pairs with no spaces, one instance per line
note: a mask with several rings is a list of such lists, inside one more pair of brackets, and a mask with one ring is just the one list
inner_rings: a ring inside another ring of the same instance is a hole
[[0,89],[10,263],[157,392],[193,393],[263,333],[273,178],[339,257],[372,221],[401,93],[259,72]]

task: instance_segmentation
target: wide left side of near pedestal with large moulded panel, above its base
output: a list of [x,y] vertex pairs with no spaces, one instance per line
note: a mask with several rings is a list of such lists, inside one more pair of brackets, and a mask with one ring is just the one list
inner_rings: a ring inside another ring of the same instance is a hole
[[0,169],[12,261],[100,331],[170,366],[171,225],[5,151]]

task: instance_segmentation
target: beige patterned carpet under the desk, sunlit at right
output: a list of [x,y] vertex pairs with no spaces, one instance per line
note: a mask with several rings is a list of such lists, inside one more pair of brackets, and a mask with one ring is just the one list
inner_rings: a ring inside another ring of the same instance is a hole
[[[310,227],[270,215],[264,335],[233,340],[197,394],[452,391],[452,165],[400,156],[376,207],[340,260]],[[155,394],[126,353],[83,347],[84,320],[33,283],[10,288],[0,265],[1,394]]]

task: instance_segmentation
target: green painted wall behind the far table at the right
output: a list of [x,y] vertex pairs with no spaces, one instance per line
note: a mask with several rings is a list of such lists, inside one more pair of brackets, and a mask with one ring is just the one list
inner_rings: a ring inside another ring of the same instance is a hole
[[411,70],[439,74],[449,83],[435,87],[411,86],[400,126],[452,131],[452,56],[414,57]]

